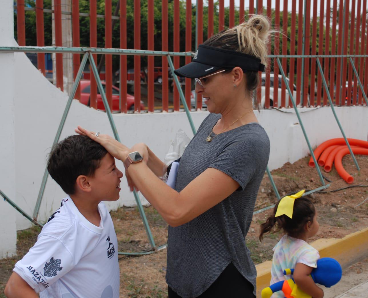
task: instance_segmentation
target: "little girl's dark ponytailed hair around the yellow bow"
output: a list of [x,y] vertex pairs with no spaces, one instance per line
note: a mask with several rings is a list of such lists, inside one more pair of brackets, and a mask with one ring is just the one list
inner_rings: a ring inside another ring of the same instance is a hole
[[272,215],[267,218],[266,222],[261,224],[261,233],[259,234],[260,241],[262,241],[263,234],[269,232],[275,233],[281,229],[283,229],[287,235],[297,238],[303,232],[305,224],[308,221],[313,222],[316,208],[308,198],[300,197],[294,201],[293,218],[285,214],[275,217],[279,203],[280,201],[278,201],[275,208],[273,208]]

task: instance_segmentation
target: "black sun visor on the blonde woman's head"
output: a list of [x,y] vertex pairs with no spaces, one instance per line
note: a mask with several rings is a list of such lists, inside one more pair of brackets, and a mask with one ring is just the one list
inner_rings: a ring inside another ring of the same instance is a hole
[[180,77],[200,78],[219,69],[232,69],[237,66],[243,71],[265,70],[261,59],[257,57],[213,46],[199,45],[192,62],[174,70],[174,73]]

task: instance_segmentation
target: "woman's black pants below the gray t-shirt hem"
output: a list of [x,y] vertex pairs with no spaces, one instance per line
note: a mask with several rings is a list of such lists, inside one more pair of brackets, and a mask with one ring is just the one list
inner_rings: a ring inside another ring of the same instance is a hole
[[[169,298],[181,298],[168,287]],[[230,263],[210,287],[197,298],[255,298],[253,285]]]

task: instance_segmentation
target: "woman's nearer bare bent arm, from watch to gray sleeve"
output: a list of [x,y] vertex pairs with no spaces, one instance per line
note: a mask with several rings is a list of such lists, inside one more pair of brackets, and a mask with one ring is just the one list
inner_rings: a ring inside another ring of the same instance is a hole
[[229,175],[213,168],[206,169],[180,193],[162,182],[145,162],[131,164],[128,173],[144,197],[172,227],[191,221],[239,187]]

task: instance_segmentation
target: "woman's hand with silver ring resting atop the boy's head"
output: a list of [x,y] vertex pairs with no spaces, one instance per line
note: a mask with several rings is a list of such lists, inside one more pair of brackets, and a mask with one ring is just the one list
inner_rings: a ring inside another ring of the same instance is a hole
[[98,136],[96,136],[95,132],[90,132],[79,125],[78,128],[75,129],[75,132],[82,134],[83,136],[88,136],[93,141],[101,144],[113,157],[117,159],[123,160],[122,153],[124,151],[129,151],[127,146],[121,144],[108,134],[98,134]]

